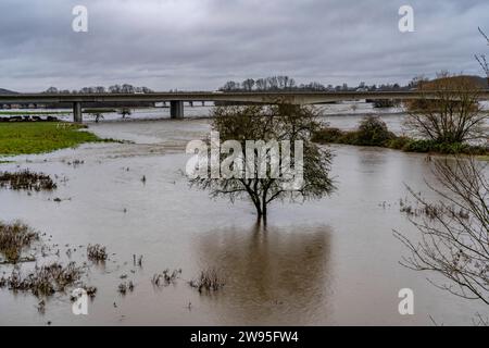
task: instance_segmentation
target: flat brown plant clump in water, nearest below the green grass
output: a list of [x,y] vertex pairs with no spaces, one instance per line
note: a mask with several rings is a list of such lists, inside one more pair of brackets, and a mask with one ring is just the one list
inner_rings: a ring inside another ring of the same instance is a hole
[[24,170],[20,172],[0,173],[0,187],[14,190],[53,190],[57,184],[49,175]]

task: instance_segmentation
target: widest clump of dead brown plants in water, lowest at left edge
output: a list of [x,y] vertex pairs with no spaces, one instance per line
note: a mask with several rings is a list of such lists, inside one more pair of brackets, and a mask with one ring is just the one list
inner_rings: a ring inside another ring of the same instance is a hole
[[13,291],[32,293],[36,297],[49,297],[55,293],[65,293],[82,277],[82,269],[74,262],[66,266],[54,262],[37,266],[26,276],[21,270],[14,269],[9,277],[0,278],[0,288],[9,287]]

